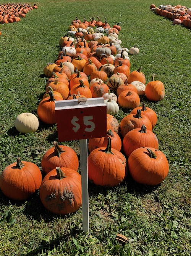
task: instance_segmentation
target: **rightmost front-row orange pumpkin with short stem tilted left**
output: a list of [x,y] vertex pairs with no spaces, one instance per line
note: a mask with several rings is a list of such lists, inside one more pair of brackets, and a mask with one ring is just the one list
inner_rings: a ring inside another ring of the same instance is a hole
[[168,160],[162,151],[152,147],[134,150],[128,158],[129,173],[144,185],[158,185],[168,175]]

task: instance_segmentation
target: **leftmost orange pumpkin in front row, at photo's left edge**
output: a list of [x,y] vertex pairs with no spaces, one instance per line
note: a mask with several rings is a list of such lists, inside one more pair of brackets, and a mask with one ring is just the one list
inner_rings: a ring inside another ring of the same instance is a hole
[[25,200],[40,188],[42,174],[37,165],[21,161],[8,165],[0,176],[0,188],[6,197]]

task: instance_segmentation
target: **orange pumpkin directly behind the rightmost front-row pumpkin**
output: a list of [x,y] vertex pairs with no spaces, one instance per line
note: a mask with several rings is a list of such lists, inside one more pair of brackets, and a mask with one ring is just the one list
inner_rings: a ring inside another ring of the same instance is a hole
[[151,130],[147,130],[144,124],[141,129],[136,128],[130,130],[123,139],[123,151],[127,157],[139,147],[154,147],[155,149],[159,149],[157,136]]

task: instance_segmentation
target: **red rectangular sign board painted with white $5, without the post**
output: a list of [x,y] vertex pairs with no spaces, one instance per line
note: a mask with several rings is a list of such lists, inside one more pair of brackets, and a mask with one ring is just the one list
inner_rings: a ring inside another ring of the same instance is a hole
[[107,136],[105,104],[55,108],[55,114],[59,142]]

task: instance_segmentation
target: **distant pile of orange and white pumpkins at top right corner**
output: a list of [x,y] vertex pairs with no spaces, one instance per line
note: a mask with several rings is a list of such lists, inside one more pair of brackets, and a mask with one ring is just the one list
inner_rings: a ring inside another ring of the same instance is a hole
[[181,5],[160,5],[156,7],[152,4],[150,9],[157,15],[172,20],[173,25],[183,25],[191,28],[191,8]]

